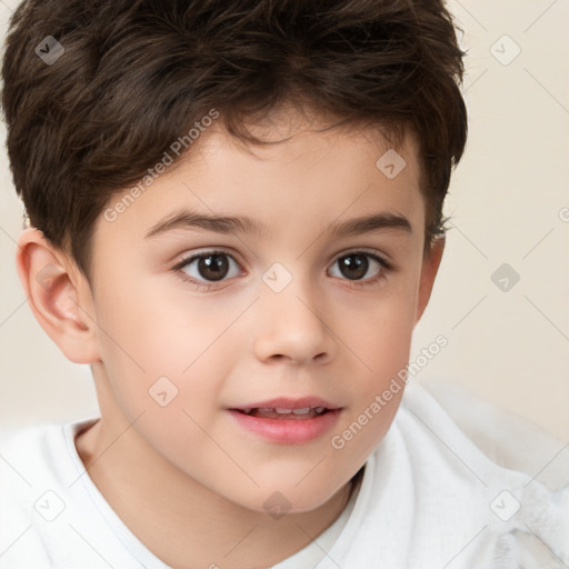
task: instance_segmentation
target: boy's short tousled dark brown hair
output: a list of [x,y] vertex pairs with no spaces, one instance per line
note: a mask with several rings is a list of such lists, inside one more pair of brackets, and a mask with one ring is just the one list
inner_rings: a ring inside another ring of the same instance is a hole
[[[426,252],[445,233],[467,111],[466,53],[442,0],[24,0],[8,31],[2,107],[16,190],[31,224],[88,279],[106,204],[211,109],[258,144],[246,120],[284,101],[377,123],[399,141],[411,128]],[[37,52],[48,36],[64,50],[52,64]]]

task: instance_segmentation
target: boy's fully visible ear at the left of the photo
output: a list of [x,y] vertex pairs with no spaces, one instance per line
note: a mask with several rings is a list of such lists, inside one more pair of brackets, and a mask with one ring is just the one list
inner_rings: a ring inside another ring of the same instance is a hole
[[64,356],[100,361],[91,288],[73,260],[29,228],[18,239],[16,266],[33,316]]

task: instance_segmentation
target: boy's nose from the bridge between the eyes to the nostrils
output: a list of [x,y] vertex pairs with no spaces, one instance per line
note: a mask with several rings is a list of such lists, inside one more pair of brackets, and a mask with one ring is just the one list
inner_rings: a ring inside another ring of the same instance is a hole
[[261,325],[256,338],[258,357],[287,357],[308,361],[332,356],[335,340],[326,323],[323,297],[318,283],[299,262],[276,262],[262,274],[259,299]]

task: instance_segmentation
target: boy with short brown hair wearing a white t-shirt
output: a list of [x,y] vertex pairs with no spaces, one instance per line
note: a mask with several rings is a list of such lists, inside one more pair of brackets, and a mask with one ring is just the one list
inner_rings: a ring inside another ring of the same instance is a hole
[[439,0],[19,7],[17,266],[100,417],[3,443],[0,567],[569,562],[569,489],[407,385],[463,54]]

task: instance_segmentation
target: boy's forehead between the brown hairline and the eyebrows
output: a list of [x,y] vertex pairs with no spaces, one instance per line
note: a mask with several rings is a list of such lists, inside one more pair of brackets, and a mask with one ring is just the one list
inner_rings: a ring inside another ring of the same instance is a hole
[[136,200],[127,199],[130,190],[114,196],[109,207],[120,214],[112,227],[99,220],[97,231],[143,239],[181,207],[257,219],[264,236],[291,221],[318,226],[378,209],[405,212],[419,226],[423,200],[413,133],[407,132],[396,149],[377,127],[329,127],[323,120],[277,114],[248,126],[253,136],[273,142],[259,147],[230,136],[219,120],[172,168],[148,187],[139,184]]

